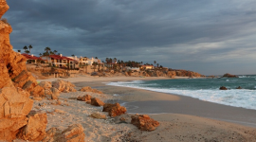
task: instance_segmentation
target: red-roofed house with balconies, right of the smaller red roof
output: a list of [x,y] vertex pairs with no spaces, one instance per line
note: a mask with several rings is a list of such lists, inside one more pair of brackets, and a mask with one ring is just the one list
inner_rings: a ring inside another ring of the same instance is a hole
[[78,68],[78,63],[74,59],[68,58],[60,55],[48,55],[42,56],[43,60],[46,60],[47,63],[50,63],[53,66],[61,67],[61,68]]

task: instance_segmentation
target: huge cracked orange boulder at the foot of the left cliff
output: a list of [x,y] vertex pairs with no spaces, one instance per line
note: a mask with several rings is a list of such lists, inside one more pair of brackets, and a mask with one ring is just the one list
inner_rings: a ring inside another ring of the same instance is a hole
[[27,114],[33,106],[27,91],[21,88],[0,89],[0,140],[13,140],[19,129],[27,125]]

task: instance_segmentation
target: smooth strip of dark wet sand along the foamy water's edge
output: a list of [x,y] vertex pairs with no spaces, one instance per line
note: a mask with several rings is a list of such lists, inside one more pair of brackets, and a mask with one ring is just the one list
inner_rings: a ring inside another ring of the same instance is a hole
[[256,110],[142,89],[109,86],[100,81],[80,82],[77,85],[89,85],[105,94],[118,95],[119,102],[125,102],[130,114],[196,115],[256,128]]

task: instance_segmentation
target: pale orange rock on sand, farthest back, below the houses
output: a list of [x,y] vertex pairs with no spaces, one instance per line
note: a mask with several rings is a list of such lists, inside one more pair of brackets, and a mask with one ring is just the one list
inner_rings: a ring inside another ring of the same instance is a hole
[[69,81],[55,80],[55,81],[52,81],[51,83],[52,83],[52,87],[57,88],[61,92],[64,92],[64,93],[77,92],[77,90],[74,88],[75,85]]

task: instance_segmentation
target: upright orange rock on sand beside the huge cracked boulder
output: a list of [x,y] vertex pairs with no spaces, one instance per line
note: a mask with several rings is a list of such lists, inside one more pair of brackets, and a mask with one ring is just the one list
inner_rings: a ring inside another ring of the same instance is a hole
[[17,134],[18,138],[29,141],[41,141],[46,135],[47,115],[46,113],[28,115],[28,122]]

